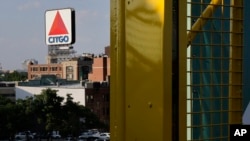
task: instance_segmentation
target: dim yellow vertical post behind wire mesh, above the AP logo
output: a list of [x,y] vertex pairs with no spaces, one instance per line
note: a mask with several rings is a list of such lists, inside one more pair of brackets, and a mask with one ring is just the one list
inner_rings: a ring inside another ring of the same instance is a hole
[[242,123],[243,0],[231,0],[229,123]]

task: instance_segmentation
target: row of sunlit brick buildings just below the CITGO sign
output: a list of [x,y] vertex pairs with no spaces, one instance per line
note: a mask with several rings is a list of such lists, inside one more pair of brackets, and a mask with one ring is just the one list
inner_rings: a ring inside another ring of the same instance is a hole
[[56,75],[67,80],[107,81],[110,76],[110,58],[99,56],[94,58],[80,57],[60,64],[29,64],[28,79],[42,75]]

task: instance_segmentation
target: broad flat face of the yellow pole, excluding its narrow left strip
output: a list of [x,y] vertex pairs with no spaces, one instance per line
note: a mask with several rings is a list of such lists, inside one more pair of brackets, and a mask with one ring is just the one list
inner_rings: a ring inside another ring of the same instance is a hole
[[125,5],[126,141],[172,140],[171,12],[167,23],[164,0]]

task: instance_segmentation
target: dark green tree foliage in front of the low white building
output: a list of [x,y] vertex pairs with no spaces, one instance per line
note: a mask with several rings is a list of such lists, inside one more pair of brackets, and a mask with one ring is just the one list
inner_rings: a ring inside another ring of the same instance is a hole
[[85,129],[104,127],[94,113],[74,102],[70,94],[63,101],[52,89],[15,103],[0,97],[0,139],[25,130],[37,133],[56,130],[62,135],[76,136]]

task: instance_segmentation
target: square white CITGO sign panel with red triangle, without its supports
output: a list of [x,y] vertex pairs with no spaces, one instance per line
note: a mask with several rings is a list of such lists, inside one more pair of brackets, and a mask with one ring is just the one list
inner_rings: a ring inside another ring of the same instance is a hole
[[48,10],[45,21],[47,45],[75,42],[75,12],[72,8]]

